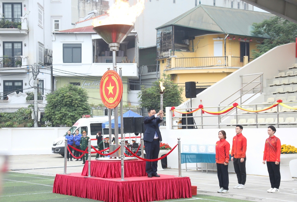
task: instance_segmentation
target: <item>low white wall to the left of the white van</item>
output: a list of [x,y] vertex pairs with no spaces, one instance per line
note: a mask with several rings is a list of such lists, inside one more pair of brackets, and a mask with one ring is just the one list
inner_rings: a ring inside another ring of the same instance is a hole
[[69,127],[1,128],[0,153],[6,155],[52,154],[53,142],[63,136]]

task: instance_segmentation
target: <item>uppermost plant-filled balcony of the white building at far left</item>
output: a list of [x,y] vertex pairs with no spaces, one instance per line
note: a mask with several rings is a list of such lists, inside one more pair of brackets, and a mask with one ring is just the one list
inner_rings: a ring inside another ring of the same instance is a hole
[[2,18],[0,19],[0,34],[28,35],[27,18]]

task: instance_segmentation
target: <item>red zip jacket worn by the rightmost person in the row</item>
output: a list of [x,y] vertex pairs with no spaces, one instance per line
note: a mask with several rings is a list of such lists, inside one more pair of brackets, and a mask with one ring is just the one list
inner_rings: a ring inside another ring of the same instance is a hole
[[280,162],[281,140],[275,136],[269,137],[265,142],[263,161]]

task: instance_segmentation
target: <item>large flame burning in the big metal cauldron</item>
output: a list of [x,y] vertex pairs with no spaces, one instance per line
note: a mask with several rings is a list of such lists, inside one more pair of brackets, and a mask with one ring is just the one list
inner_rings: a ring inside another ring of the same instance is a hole
[[115,3],[107,11],[109,16],[103,20],[93,19],[94,27],[110,24],[133,25],[144,9],[144,0],[137,0],[137,3],[130,7],[128,2],[124,0],[116,0]]

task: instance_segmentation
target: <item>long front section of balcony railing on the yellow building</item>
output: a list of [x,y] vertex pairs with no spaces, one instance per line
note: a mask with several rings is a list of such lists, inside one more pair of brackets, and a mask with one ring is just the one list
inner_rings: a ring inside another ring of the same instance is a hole
[[195,58],[176,58],[175,67],[211,67],[211,66],[226,66],[227,57],[195,57]]

